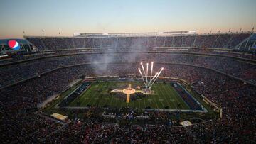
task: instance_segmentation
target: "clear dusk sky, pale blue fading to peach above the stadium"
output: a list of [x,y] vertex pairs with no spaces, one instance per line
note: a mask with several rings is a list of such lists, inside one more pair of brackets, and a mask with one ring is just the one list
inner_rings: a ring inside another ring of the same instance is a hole
[[[0,38],[251,31],[256,0],[0,0]],[[42,29],[44,33],[42,33]]]

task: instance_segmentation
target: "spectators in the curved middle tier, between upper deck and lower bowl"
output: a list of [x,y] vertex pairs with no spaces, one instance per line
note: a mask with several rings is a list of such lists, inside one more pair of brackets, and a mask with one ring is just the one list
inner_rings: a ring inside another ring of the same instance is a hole
[[[0,87],[13,84],[37,74],[54,70],[58,67],[98,62],[171,62],[208,67],[234,77],[247,80],[256,84],[255,64],[244,62],[229,57],[212,57],[203,55],[177,54],[177,53],[146,53],[146,52],[121,52],[121,53],[95,53],[83,55],[68,55],[62,57],[48,57],[40,60],[18,63],[0,67]],[[99,67],[99,70],[107,67]]]

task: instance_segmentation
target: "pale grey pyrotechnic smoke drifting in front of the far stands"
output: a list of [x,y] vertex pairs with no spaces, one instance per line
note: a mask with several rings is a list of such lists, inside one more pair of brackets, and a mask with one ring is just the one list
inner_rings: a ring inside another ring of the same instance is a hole
[[[96,40],[97,38],[95,38]],[[97,39],[98,40],[98,39]],[[142,60],[141,54],[138,51],[147,51],[147,38],[127,38],[127,37],[116,37],[116,38],[106,38],[109,40],[111,54],[104,53],[101,57],[95,57],[92,60],[95,74],[112,74],[108,70],[110,62],[137,62]],[[100,41],[102,43],[102,41]],[[102,44],[101,44],[102,45]],[[101,46],[100,45],[100,46]],[[122,54],[117,53],[122,51]],[[124,51],[129,51],[126,53]],[[122,55],[124,59],[120,59],[119,55]],[[131,67],[132,64],[124,65],[123,69]]]

